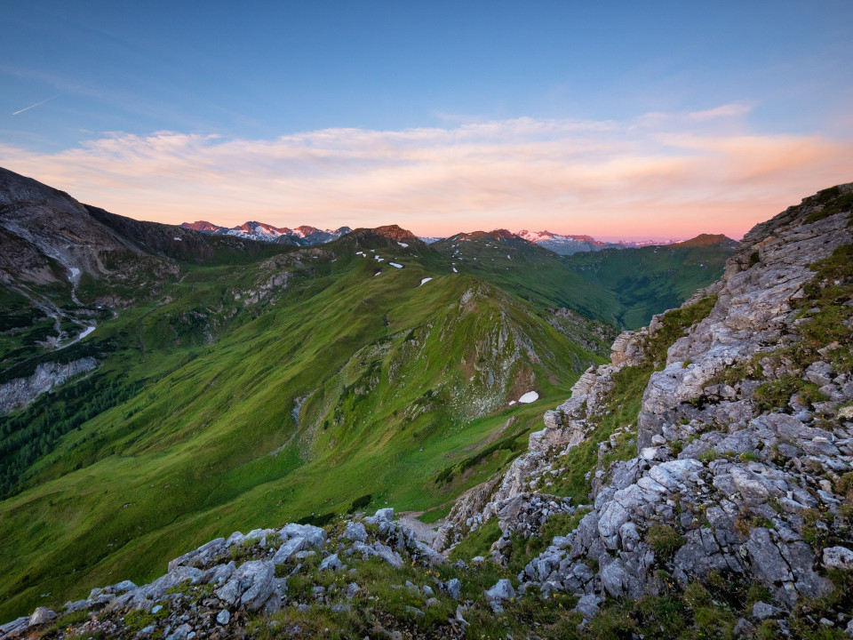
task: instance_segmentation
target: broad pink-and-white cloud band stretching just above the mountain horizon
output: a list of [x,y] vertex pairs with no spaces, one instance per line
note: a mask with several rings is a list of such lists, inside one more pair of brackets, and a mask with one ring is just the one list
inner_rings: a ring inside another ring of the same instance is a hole
[[110,211],[172,223],[739,237],[802,196],[853,180],[849,140],[730,133],[748,109],[275,140],[116,132],[52,154],[0,145],[0,164]]

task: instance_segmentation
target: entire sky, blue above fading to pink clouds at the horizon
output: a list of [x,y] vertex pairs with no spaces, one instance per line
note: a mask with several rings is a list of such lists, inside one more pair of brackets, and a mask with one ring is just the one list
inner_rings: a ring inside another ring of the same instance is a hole
[[0,166],[140,220],[739,238],[853,180],[853,3],[4,0]]

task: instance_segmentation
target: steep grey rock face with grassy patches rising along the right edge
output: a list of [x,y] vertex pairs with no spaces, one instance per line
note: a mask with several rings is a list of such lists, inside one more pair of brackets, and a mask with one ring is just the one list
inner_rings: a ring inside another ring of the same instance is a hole
[[[518,496],[554,501],[538,492],[559,485],[571,470],[562,459],[623,402],[615,378],[645,375],[636,453],[614,455],[632,451],[632,424],[599,444],[593,505],[527,564],[522,584],[583,596],[585,615],[605,596],[658,594],[673,578],[682,588],[712,575],[759,583],[789,610],[833,591],[826,569],[853,553],[851,194],[828,189],[753,228],[718,283],[619,336],[611,364],[546,412],[481,513],[465,523],[451,514],[443,540]],[[710,312],[674,330],[672,318],[699,308]],[[492,552],[511,553],[508,540]]]

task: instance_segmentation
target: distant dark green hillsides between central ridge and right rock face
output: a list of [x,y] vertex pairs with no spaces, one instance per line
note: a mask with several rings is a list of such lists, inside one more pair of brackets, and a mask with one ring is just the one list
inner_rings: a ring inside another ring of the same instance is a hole
[[432,246],[459,273],[482,277],[522,300],[636,329],[713,283],[736,245],[725,236],[702,235],[668,246],[561,256],[498,229]]

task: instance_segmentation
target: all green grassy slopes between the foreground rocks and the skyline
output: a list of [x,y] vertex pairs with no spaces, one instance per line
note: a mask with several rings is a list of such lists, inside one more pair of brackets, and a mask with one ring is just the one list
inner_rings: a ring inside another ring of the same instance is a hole
[[[33,327],[4,334],[4,380],[38,362],[100,365],[0,419],[0,618],[152,580],[235,530],[385,505],[434,523],[526,450],[542,413],[604,362],[614,324],[718,275],[643,253],[658,297],[641,308],[617,277],[636,276],[637,252],[578,268],[517,238],[403,246],[400,233],[176,255],[161,278],[143,256],[129,280],[84,277],[80,304],[60,287],[67,315],[98,328],[59,351],[38,348],[48,319],[4,290],[5,324]],[[130,301],[95,304],[116,294]],[[528,391],[538,400],[511,404]]]

